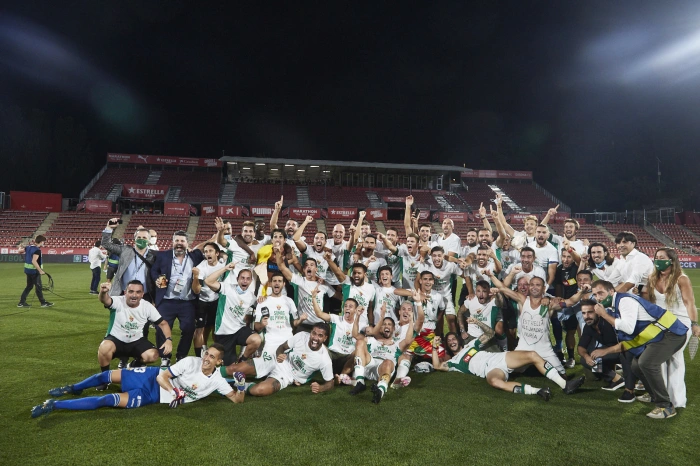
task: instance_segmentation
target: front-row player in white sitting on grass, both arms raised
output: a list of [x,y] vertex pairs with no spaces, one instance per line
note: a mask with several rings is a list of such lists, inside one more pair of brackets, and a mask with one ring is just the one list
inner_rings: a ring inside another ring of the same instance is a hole
[[[372,328],[366,328],[367,335],[362,335],[359,330],[360,313],[355,317],[352,327],[352,336],[357,341],[355,345],[355,388],[350,390],[351,395],[357,395],[367,389],[365,380],[377,380],[372,386],[373,403],[382,401],[382,397],[389,387],[396,360],[406,348],[413,342],[413,332],[407,331],[406,336],[399,340],[394,337],[396,329],[394,319],[385,317],[386,303],[382,306],[381,324]],[[413,313],[410,314],[409,329],[413,324]],[[371,332],[371,333],[370,333]]]

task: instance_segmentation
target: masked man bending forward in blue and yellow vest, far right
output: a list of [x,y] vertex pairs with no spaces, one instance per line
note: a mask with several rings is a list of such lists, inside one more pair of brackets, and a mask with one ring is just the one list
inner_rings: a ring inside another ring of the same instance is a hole
[[[637,400],[656,405],[647,417],[666,419],[675,416],[676,409],[669,398],[661,365],[683,347],[688,327],[671,311],[633,294],[617,292],[608,281],[595,282],[593,295],[599,303],[595,306],[596,314],[615,327],[620,343],[598,348],[591,357],[603,358],[623,351],[632,353],[632,372],[649,391],[649,394],[638,396]],[[611,309],[606,310],[606,307]]]

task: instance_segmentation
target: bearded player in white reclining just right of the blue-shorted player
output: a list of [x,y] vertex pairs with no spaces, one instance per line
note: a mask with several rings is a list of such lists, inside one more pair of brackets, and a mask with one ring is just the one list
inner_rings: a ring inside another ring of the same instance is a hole
[[[251,384],[245,393],[253,396],[268,396],[286,388],[290,384],[303,385],[319,371],[324,382],[311,383],[312,393],[321,393],[333,388],[333,364],[328,350],[323,345],[328,339],[328,324],[316,323],[311,333],[299,332],[277,348],[277,359],[264,361],[272,369],[261,367],[260,372],[269,372],[267,379],[259,384]],[[230,366],[229,366],[230,367]],[[226,367],[221,373],[226,373]],[[234,374],[234,379],[236,374]],[[241,395],[243,401],[245,393]]]

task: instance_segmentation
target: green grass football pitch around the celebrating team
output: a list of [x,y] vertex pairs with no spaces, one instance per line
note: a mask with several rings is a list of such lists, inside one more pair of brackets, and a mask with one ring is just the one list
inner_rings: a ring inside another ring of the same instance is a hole
[[[664,421],[644,416],[650,405],[618,403],[619,391],[601,390],[590,377],[572,396],[547,379],[519,378],[556,389],[545,403],[457,373],[411,373],[411,386],[390,390],[380,405],[370,402],[369,390],[312,395],[304,386],[247,397],[242,405],[212,395],[176,410],[58,411],[31,419],[30,408],[48,398],[49,388],[99,371],[97,346],[107,325],[105,309],[88,294],[86,264],[46,269],[66,299],[49,295],[55,306],[42,309],[32,297],[33,307],[22,312],[22,266],[0,264],[2,465],[698,464],[700,359],[690,362],[687,353],[688,407]],[[689,275],[698,289],[700,273]]]

